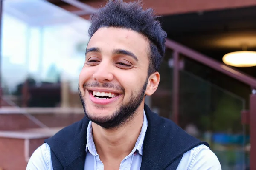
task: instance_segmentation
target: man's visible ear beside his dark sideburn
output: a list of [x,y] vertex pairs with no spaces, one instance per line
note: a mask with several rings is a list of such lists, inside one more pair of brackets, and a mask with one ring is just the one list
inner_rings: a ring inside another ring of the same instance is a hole
[[158,72],[154,72],[148,77],[148,85],[145,91],[145,94],[151,96],[159,85],[160,75]]

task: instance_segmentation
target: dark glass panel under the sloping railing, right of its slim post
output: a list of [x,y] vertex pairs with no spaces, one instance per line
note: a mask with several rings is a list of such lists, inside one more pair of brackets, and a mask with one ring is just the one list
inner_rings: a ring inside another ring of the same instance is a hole
[[249,141],[241,125],[245,99],[183,69],[179,107],[179,125],[210,144],[223,170],[244,169],[248,163],[245,144]]

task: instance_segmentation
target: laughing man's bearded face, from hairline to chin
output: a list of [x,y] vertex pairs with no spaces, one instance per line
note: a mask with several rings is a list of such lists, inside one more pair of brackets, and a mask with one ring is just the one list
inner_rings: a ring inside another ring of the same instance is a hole
[[91,37],[79,76],[79,94],[91,121],[115,128],[134,115],[148,84],[148,49],[148,40],[128,29],[100,28]]

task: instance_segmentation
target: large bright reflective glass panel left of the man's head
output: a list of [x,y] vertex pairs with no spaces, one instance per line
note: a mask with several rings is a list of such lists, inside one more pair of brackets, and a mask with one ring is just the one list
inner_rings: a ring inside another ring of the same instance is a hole
[[[70,97],[78,95],[89,26],[88,20],[44,0],[4,1],[4,99],[18,106],[60,106],[64,82],[70,94],[67,105],[80,105],[70,102]],[[24,88],[26,83],[28,88]]]

